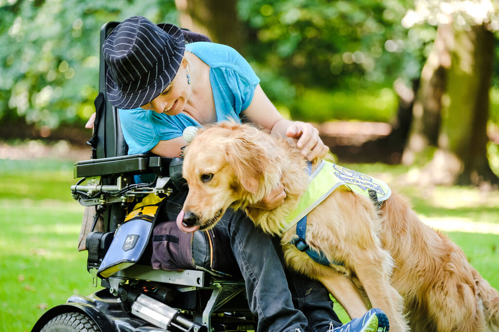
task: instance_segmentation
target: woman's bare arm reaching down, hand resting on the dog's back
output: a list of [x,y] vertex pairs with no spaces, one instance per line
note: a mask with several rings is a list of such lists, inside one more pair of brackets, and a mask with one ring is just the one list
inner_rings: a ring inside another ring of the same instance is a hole
[[243,111],[243,115],[271,130],[273,135],[296,138],[298,140],[296,145],[308,160],[322,158],[329,151],[320,139],[319,131],[310,123],[282,118],[259,84],[255,88],[250,106]]

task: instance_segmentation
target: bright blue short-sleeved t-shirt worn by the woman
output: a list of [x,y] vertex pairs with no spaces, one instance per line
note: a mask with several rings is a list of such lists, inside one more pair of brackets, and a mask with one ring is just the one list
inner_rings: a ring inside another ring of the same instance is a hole
[[[186,50],[210,66],[217,121],[230,118],[241,121],[240,114],[250,106],[260,81],[248,61],[232,47],[216,43],[190,43]],[[128,154],[148,152],[160,140],[182,136],[188,126],[200,126],[184,113],[171,116],[138,108],[119,110],[119,116]]]

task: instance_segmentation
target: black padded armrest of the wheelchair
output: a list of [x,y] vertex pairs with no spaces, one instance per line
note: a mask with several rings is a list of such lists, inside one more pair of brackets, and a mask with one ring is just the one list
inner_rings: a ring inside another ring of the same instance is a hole
[[171,158],[160,157],[152,153],[82,160],[74,164],[74,178],[137,175],[143,173],[169,176],[168,167],[171,160]]

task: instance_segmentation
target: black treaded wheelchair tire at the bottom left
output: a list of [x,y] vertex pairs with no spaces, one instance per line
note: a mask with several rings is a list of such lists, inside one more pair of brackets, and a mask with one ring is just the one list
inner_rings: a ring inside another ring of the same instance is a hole
[[40,332],[100,332],[100,329],[85,314],[65,313],[52,318]]

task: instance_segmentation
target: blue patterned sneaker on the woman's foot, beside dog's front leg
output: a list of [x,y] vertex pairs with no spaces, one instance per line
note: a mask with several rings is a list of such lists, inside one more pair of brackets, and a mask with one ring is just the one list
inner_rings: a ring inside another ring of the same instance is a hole
[[388,317],[380,309],[375,308],[339,328],[334,328],[331,324],[328,332],[388,332],[389,330]]

